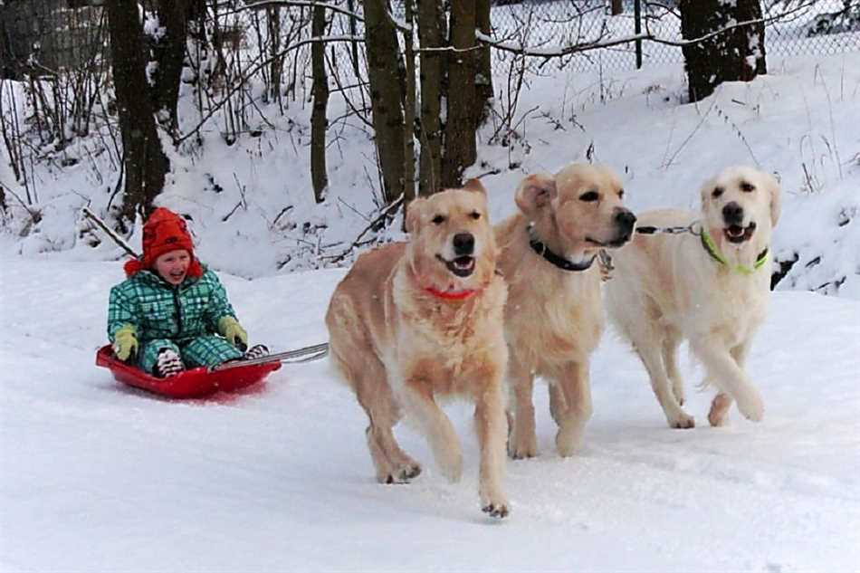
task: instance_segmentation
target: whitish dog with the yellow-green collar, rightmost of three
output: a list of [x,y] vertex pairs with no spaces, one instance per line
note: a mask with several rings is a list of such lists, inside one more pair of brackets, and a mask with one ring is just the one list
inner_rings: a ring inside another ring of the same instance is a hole
[[[702,186],[701,213],[642,214],[648,226],[685,226],[698,234],[637,234],[616,254],[607,284],[610,318],[634,348],[669,425],[691,428],[683,411],[676,352],[688,339],[706,382],[719,389],[708,420],[723,425],[732,400],[759,421],[759,392],[744,372],[753,334],[768,307],[770,234],[779,218],[779,184],[750,167],[729,167]],[[671,385],[671,391],[670,391]]]

